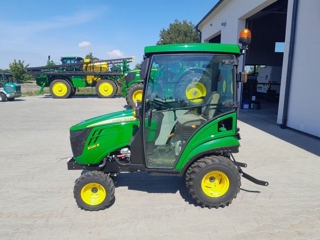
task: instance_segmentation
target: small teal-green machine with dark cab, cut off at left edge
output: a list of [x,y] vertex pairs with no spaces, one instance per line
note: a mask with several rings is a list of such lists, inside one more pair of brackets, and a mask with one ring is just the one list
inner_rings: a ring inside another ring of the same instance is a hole
[[14,81],[11,73],[0,73],[0,102],[9,102],[22,95],[21,86]]

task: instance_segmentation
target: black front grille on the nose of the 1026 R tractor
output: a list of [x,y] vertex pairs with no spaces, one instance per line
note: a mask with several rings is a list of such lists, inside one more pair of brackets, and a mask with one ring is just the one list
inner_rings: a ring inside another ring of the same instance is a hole
[[78,157],[82,154],[85,142],[92,128],[86,128],[78,131],[70,131],[70,143],[73,157]]

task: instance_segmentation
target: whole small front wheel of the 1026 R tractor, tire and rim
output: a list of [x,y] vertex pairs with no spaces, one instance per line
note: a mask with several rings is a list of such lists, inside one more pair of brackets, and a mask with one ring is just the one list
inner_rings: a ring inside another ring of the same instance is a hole
[[73,195],[81,209],[98,211],[105,209],[115,194],[113,180],[100,171],[82,174],[76,181]]

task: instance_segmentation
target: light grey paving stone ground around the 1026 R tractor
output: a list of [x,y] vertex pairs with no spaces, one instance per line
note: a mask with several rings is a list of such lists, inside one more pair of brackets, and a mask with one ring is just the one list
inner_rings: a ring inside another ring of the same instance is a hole
[[25,97],[0,103],[0,239],[320,239],[320,141],[240,113],[238,161],[248,174],[225,208],[195,205],[184,178],[123,173],[115,199],[80,210],[68,171],[69,127],[125,109],[121,97]]

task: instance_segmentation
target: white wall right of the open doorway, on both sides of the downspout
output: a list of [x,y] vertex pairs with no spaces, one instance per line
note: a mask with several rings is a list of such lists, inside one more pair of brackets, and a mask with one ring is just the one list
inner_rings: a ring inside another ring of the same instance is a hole
[[[277,123],[282,123],[284,89],[293,0],[289,0],[280,102]],[[320,137],[320,1],[299,1],[292,62],[287,126]]]

